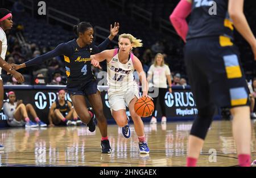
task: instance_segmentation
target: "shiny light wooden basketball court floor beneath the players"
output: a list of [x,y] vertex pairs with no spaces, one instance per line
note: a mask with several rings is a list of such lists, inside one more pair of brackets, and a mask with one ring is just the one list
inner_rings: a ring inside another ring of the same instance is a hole
[[[256,122],[252,121],[251,158],[256,159]],[[185,166],[187,140],[192,122],[145,123],[150,154],[140,155],[138,139],[131,125],[131,138],[121,128],[109,125],[112,154],[101,154],[101,135],[85,126],[43,129],[0,130],[0,166]],[[217,156],[214,157],[214,154]],[[214,121],[198,166],[237,166],[230,121]]]

